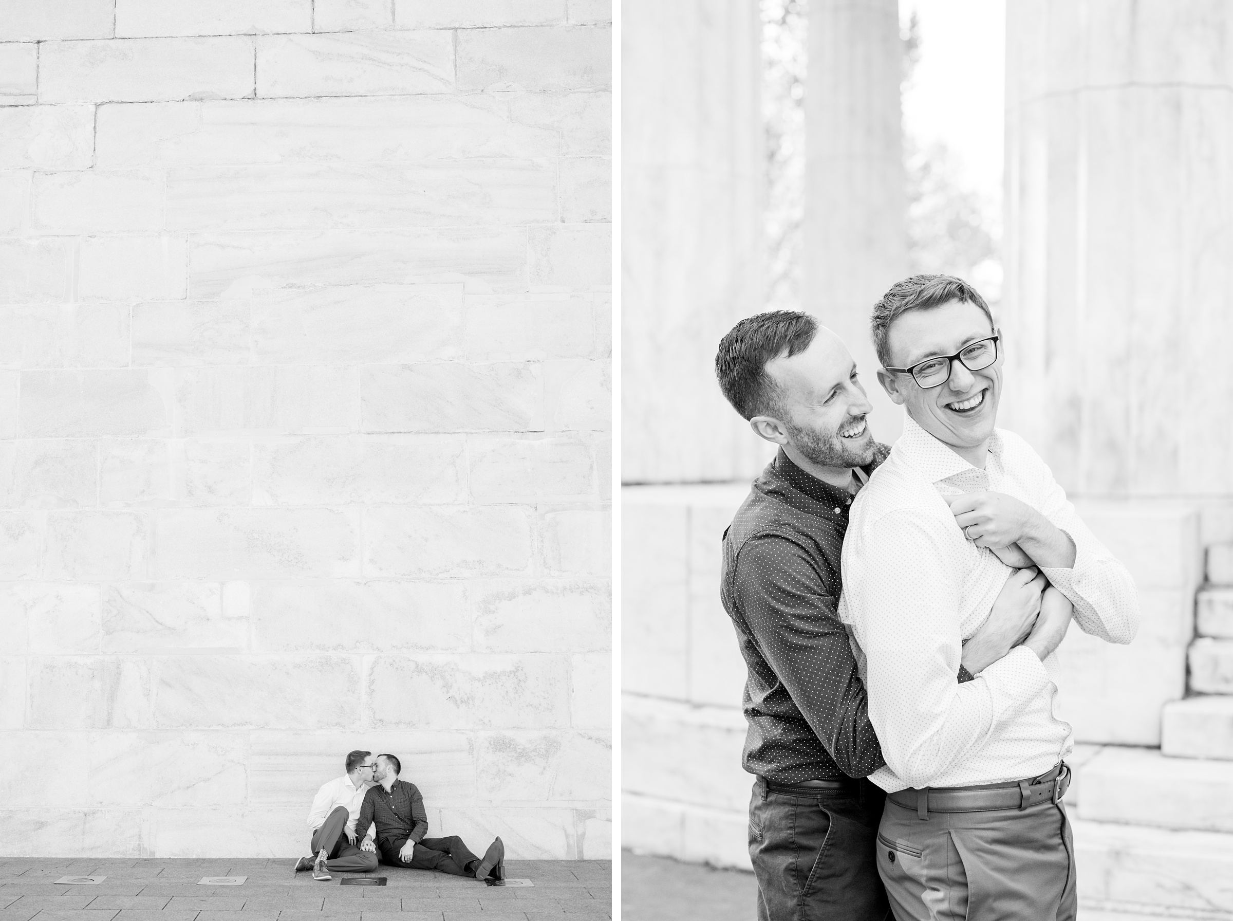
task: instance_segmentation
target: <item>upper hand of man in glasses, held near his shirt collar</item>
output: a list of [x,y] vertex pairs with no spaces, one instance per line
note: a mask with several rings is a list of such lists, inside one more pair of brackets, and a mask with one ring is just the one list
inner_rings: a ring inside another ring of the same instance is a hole
[[[1007,566],[1031,561],[1036,566],[1070,568],[1075,544],[1070,535],[1025,502],[1004,492],[947,496],[954,523],[978,547],[989,547]],[[1011,547],[1020,552],[1015,552]]]

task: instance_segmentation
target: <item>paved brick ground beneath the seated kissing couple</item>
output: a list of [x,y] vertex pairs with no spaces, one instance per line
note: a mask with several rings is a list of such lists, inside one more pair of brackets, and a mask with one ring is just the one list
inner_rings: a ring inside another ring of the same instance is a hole
[[[612,861],[507,861],[534,888],[380,867],[385,886],[293,873],[293,859],[0,858],[0,921],[568,921],[612,917]],[[106,877],[97,885],[60,877]],[[202,877],[248,877],[239,886]]]

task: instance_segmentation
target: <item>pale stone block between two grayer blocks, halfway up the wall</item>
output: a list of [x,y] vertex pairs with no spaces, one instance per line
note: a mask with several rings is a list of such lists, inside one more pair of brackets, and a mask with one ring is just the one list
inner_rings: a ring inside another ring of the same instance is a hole
[[189,435],[354,432],[358,371],[339,366],[187,367],[176,402]]

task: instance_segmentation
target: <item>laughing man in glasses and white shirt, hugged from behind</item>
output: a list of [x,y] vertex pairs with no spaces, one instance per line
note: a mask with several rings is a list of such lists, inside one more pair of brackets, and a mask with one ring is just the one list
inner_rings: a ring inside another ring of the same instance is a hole
[[874,307],[878,379],[904,434],[852,504],[840,615],[852,631],[887,767],[878,869],[905,919],[1075,917],[1060,801],[1070,726],[1051,645],[956,683],[963,642],[1016,566],[1051,582],[1041,618],[1129,642],[1138,599],[1049,469],[995,428],[1002,343],[959,279],[917,275]]

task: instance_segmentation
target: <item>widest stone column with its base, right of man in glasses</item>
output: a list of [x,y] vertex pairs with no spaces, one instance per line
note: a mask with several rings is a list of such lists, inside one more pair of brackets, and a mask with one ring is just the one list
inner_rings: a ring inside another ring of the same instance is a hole
[[1233,539],[1233,7],[1010,0],[1006,35],[1002,422],[1141,589],[1131,647],[1063,646],[1076,736],[1157,745]]

